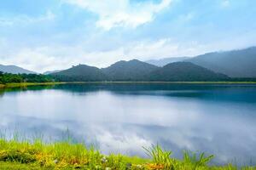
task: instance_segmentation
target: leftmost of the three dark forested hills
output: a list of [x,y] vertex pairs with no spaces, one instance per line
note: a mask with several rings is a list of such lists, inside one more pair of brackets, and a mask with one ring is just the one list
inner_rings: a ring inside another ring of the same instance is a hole
[[77,65],[65,71],[50,74],[61,82],[96,82],[106,81],[106,77],[102,71],[94,66]]

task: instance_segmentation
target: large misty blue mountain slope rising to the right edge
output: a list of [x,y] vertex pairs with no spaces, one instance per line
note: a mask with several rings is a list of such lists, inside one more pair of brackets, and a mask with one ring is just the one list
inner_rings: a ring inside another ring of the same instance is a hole
[[256,77],[256,47],[202,54],[185,61],[229,77]]

